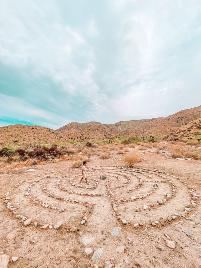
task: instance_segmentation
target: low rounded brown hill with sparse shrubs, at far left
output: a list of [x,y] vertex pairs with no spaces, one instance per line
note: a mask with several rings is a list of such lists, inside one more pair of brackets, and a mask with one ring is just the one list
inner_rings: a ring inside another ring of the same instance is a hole
[[13,143],[14,141],[33,143],[55,141],[66,142],[69,137],[51,128],[41,126],[11,125],[0,127],[0,143]]

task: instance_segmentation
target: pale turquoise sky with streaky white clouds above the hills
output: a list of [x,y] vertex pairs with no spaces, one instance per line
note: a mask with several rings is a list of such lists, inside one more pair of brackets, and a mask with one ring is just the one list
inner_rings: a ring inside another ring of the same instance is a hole
[[0,126],[201,105],[200,0],[0,0]]

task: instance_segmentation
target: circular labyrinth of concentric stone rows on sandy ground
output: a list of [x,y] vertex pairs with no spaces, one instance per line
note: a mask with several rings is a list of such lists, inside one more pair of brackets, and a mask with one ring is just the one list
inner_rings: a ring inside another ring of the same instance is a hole
[[180,178],[156,169],[88,167],[88,186],[79,184],[80,169],[53,173],[19,182],[7,192],[10,217],[38,230],[62,226],[75,232],[95,225],[99,214],[102,221],[113,218],[122,227],[146,230],[188,219],[200,198]]

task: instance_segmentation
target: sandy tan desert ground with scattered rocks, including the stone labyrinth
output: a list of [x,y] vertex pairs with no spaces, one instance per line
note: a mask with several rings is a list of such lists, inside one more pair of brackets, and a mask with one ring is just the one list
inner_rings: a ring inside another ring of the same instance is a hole
[[[88,186],[73,160],[2,170],[0,255],[9,267],[201,267],[201,161],[143,149],[91,155]],[[136,151],[142,161],[126,167]]]

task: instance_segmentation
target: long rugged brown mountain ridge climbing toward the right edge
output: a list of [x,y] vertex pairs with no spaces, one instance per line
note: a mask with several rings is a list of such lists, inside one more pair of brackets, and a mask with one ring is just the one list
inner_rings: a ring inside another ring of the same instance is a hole
[[115,124],[101,124],[100,122],[69,123],[57,131],[66,134],[71,139],[102,139],[115,136],[148,136],[163,137],[171,135],[188,122],[201,117],[201,105],[179,111],[167,117],[152,119],[120,121]]

